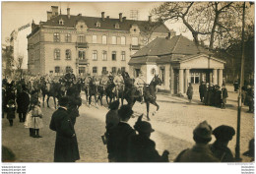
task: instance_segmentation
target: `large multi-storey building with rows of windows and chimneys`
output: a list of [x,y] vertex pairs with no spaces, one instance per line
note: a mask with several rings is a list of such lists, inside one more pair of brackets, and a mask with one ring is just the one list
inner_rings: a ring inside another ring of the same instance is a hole
[[[130,56],[156,37],[165,37],[169,29],[149,21],[105,17],[85,17],[81,14],[58,14],[51,6],[47,21],[32,23],[28,35],[29,71],[32,74],[53,73],[59,76],[73,70],[74,74],[100,75],[102,71],[129,71]],[[153,32],[151,30],[154,30]],[[171,31],[174,35],[174,31]]]

